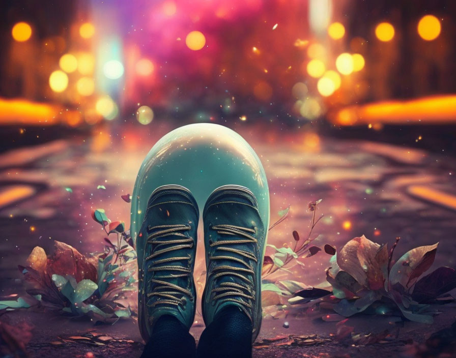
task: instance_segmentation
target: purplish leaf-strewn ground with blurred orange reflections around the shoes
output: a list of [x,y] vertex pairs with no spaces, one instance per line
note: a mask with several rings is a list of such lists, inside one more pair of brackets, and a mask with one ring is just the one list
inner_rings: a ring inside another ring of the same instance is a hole
[[[124,220],[128,226],[129,204],[120,196],[131,194],[141,161],[168,129],[161,126],[153,133],[140,134],[133,129],[121,133],[101,129],[89,137],[55,140],[0,155],[0,293],[21,292],[16,266],[25,263],[37,245],[49,251],[53,240],[58,240],[84,254],[101,251],[103,234],[91,219],[91,208],[103,207],[109,218]],[[291,205],[289,219],[270,231],[269,243],[281,246],[291,242],[293,230],[306,236],[310,220],[307,204],[323,199],[318,214],[324,214],[324,218],[314,231],[322,236],[316,245],[340,247],[361,234],[378,243],[392,243],[401,236],[396,255],[440,242],[435,266],[456,265],[456,160],[445,152],[433,154],[405,146],[336,140],[311,133],[277,134],[260,132],[258,128],[240,132],[265,167],[271,193],[271,222],[278,219],[279,210]],[[97,189],[99,185],[106,189]],[[198,257],[201,255],[198,250]],[[328,259],[328,255],[319,253],[309,258],[307,270],[287,274],[287,278],[317,285],[325,281]],[[200,259],[195,276],[203,270]],[[432,332],[449,326],[455,316],[454,311],[450,312],[438,316],[432,328],[407,323],[399,340],[388,344],[359,348],[331,341],[310,347],[255,349],[254,356],[391,356],[388,352],[396,351],[397,345],[403,346],[405,339],[423,341]],[[3,319],[30,322],[34,328],[27,347],[37,356],[63,356],[68,352],[83,355],[86,351],[100,356],[139,356],[141,350],[132,320],[94,328],[87,322],[39,312],[10,312]],[[351,318],[349,323],[355,325],[353,321],[359,320],[357,332],[365,333],[391,326],[385,318],[376,319],[383,323],[372,324],[372,319],[364,316]],[[287,320],[289,330],[281,327],[284,319],[266,319],[259,339],[282,333],[317,333],[330,338],[330,333],[336,331],[334,322],[292,317]],[[194,327],[192,332],[197,337],[202,329]],[[91,338],[86,345],[79,342],[86,339],[68,339],[88,332],[112,339],[103,343]],[[62,343],[50,343],[55,341]]]

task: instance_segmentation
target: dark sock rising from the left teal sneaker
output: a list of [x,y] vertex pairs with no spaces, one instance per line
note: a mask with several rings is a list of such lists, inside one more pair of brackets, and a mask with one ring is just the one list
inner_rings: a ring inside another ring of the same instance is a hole
[[154,325],[141,358],[194,358],[195,340],[176,317],[163,315]]

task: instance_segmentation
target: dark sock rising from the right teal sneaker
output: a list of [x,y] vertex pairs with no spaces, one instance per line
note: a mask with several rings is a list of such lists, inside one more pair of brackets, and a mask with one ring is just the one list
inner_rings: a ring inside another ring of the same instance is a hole
[[252,322],[238,307],[223,308],[203,331],[198,358],[250,358]]

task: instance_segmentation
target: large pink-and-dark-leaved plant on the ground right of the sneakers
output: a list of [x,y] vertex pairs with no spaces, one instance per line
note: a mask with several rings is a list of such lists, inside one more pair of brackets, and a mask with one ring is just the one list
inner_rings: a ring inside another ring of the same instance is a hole
[[[390,251],[386,244],[374,243],[364,235],[350,240],[332,255],[326,270],[332,292],[320,290],[311,300],[321,297],[315,301],[320,308],[333,309],[344,317],[363,311],[381,315],[400,311],[411,321],[432,323],[434,312],[429,304],[454,301],[445,293],[456,288],[456,272],[442,266],[420,279],[433,264],[438,243],[412,249],[392,264],[399,240],[397,237]],[[297,292],[289,302],[310,301],[304,299],[307,292]]]

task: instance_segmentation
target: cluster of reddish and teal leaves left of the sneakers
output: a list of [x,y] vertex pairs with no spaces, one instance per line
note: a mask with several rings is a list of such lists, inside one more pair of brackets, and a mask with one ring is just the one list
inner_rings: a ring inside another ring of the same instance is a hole
[[103,253],[86,257],[73,247],[55,241],[51,256],[35,247],[27,262],[18,266],[29,284],[29,296],[0,302],[2,308],[41,305],[72,317],[88,316],[95,322],[115,323],[132,314],[128,291],[136,291],[136,252],[122,222],[110,222],[104,210],[92,213],[107,236],[117,236],[116,245],[108,237]]

